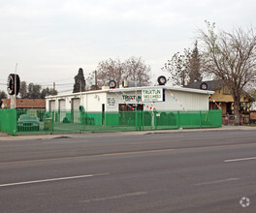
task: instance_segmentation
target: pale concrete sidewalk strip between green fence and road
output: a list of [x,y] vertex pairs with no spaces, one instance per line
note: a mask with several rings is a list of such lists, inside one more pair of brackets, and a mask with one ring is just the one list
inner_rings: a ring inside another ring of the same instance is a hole
[[156,130],[156,131],[134,131],[134,132],[108,132],[108,133],[89,133],[89,132],[82,132],[78,133],[54,133],[52,135],[22,135],[22,136],[11,136],[6,133],[0,132],[0,141],[3,140],[28,140],[28,139],[51,139],[51,138],[78,138],[78,137],[108,137],[114,135],[148,135],[148,134],[169,134],[169,133],[187,133],[187,132],[212,132],[212,131],[249,131],[249,130],[256,130],[256,127],[250,126],[222,126],[220,128],[206,128],[206,129],[178,129],[178,130]]

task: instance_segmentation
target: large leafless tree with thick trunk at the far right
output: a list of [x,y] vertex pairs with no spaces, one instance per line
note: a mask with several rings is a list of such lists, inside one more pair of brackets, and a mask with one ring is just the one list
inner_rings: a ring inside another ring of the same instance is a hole
[[256,37],[253,29],[235,28],[229,33],[214,32],[215,24],[207,23],[207,31],[199,30],[204,42],[205,69],[223,79],[229,87],[235,110],[235,123],[240,124],[240,94],[244,86],[256,76]]

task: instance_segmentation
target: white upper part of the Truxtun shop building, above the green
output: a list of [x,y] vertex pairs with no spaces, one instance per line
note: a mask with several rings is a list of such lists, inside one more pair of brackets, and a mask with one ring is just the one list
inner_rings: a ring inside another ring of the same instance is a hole
[[46,97],[48,111],[87,112],[133,110],[208,110],[213,91],[170,86],[144,86],[93,90]]

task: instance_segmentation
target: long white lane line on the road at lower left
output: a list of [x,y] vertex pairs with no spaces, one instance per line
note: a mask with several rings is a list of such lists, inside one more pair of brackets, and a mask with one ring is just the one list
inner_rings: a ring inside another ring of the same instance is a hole
[[51,182],[51,181],[59,181],[59,180],[71,180],[71,179],[79,179],[79,178],[86,178],[86,177],[93,177],[93,176],[101,176],[101,175],[107,175],[107,174],[109,174],[109,173],[86,174],[86,175],[80,175],[80,176],[59,177],[59,178],[52,178],[52,179],[45,179],[45,180],[32,180],[32,181],[17,182],[17,183],[6,183],[6,184],[1,184],[0,187],[25,185],[25,184],[33,184],[33,183],[43,183],[43,182]]

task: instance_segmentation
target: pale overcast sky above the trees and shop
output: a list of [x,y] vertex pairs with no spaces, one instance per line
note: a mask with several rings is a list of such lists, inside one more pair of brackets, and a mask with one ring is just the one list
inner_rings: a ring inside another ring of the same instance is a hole
[[16,63],[21,80],[47,86],[131,56],[151,66],[154,82],[174,53],[193,47],[204,20],[246,29],[255,11],[252,0],[0,0],[0,89]]

